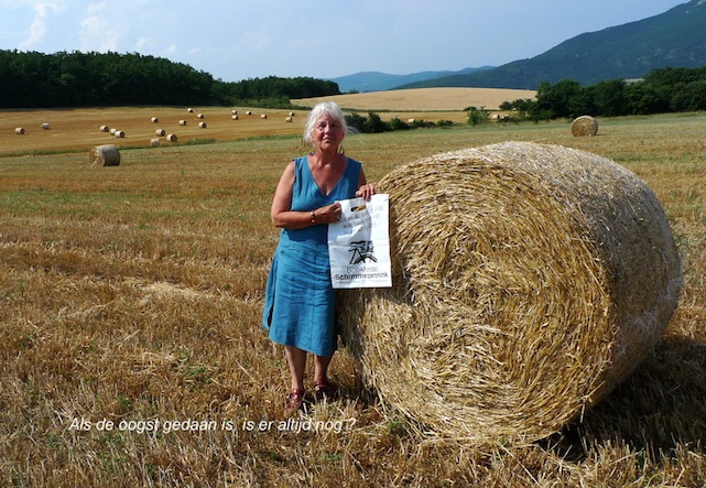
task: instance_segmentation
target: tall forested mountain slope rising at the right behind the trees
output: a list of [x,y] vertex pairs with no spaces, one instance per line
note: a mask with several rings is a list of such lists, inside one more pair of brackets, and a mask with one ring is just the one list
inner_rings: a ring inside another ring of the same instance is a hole
[[544,54],[493,69],[405,85],[536,89],[542,82],[591,85],[641,78],[663,67],[706,66],[706,0],[692,0],[638,22],[586,33]]

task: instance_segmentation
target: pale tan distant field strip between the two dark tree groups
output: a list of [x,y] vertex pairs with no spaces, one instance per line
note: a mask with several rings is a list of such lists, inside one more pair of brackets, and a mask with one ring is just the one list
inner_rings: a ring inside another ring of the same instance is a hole
[[319,101],[333,100],[339,106],[359,110],[434,111],[464,110],[485,107],[497,110],[503,101],[534,98],[534,90],[498,88],[416,88],[409,90],[372,91],[369,94],[337,95],[334,97],[302,98],[295,105],[313,107]]

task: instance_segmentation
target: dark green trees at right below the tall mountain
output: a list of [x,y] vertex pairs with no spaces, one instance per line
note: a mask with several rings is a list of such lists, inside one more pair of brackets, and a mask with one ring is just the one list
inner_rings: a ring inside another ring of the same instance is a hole
[[706,110],[706,67],[660,68],[641,80],[616,79],[590,86],[572,79],[554,85],[544,82],[535,99],[506,101],[500,108],[530,120]]

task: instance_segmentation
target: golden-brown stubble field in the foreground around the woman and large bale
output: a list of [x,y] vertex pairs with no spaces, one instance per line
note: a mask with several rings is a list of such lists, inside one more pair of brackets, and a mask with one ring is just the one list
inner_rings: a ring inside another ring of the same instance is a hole
[[[705,119],[601,120],[596,138],[554,123],[347,141],[370,180],[506,140],[574,147],[637,172],[665,207],[685,289],[662,343],[583,423],[525,447],[419,436],[346,354],[332,367],[343,399],[305,416],[319,430],[280,424],[289,377],[259,323],[270,199],[296,137],[123,149],[120,166],[95,170],[94,142],[0,158],[0,486],[703,486]],[[163,429],[189,419],[204,423]]]

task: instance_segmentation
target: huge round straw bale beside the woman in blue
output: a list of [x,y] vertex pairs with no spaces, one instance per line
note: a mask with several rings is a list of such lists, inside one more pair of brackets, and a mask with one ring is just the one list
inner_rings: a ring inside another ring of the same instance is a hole
[[536,441],[649,354],[681,263],[660,203],[601,156],[524,142],[384,176],[391,289],[341,291],[341,333],[385,408],[427,432]]

